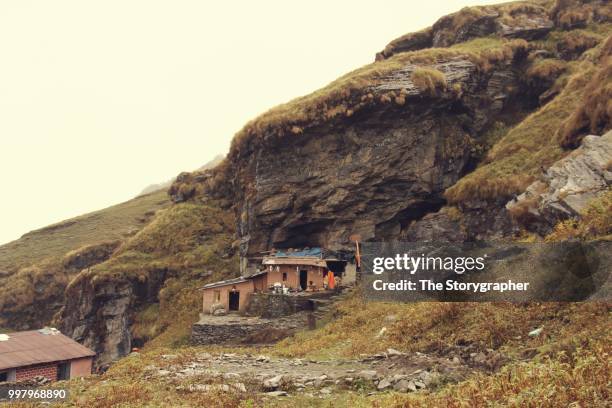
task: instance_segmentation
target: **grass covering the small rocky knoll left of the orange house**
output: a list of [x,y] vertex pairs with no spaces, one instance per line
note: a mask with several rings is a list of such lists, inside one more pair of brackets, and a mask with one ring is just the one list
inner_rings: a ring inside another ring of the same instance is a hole
[[150,294],[154,299],[136,299],[132,337],[142,342],[155,339],[154,344],[185,344],[200,311],[197,288],[239,273],[234,231],[233,214],[212,201],[173,205],[110,259],[79,273],[67,293],[83,280],[94,285],[146,284],[164,271],[157,293]]

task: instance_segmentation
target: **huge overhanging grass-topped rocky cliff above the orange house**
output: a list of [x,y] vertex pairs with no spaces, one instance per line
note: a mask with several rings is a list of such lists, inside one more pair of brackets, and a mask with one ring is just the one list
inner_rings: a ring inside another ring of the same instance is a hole
[[[520,226],[506,203],[567,154],[556,132],[608,61],[610,11],[518,2],[444,17],[247,124],[226,162],[183,175],[171,194],[226,197],[243,255],[344,248],[353,235],[510,236]],[[597,28],[576,31],[587,26]]]

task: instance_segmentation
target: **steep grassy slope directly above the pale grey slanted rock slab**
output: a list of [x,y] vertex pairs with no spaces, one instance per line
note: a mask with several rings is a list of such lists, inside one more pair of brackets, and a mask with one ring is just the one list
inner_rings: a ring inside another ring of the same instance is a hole
[[[476,171],[449,188],[446,197],[450,203],[473,198],[507,200],[567,154],[564,148],[577,147],[585,134],[603,134],[610,128],[612,25],[592,25],[591,30],[608,37],[599,37],[598,45],[580,60],[534,62],[528,71],[531,77],[541,79],[557,72],[554,87],[559,95],[509,129]],[[553,32],[545,42],[556,49],[566,36]]]

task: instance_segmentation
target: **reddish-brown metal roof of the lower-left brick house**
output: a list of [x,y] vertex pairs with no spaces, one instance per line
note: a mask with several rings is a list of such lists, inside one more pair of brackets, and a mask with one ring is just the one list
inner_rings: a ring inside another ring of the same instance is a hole
[[7,333],[8,340],[0,341],[0,370],[96,355],[60,332],[44,333],[43,330]]

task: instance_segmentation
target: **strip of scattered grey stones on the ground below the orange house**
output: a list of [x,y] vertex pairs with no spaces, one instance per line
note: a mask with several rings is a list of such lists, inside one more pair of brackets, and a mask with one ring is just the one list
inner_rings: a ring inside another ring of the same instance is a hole
[[166,383],[175,383],[178,391],[189,393],[248,392],[272,398],[303,394],[325,398],[347,390],[371,395],[389,390],[409,393],[434,389],[477,371],[496,370],[507,361],[498,352],[479,351],[470,345],[441,354],[444,355],[388,349],[360,359],[332,361],[207,352],[185,361],[178,355],[166,354],[162,364],[145,367],[145,379],[163,378]]

